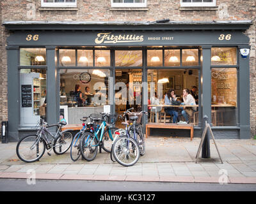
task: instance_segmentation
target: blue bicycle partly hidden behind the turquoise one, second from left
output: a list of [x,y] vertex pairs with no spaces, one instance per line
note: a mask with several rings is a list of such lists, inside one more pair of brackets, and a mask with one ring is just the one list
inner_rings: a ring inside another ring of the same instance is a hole
[[83,128],[76,133],[76,135],[74,136],[74,139],[72,141],[71,147],[70,147],[70,157],[72,159],[72,161],[77,161],[77,159],[79,159],[79,157],[81,156],[81,151],[79,148],[79,143],[80,143],[80,139],[81,139],[81,135],[83,135],[85,133],[85,131],[97,131],[97,129],[99,128],[99,126],[88,122],[87,124],[85,124],[84,122],[86,122],[86,120],[89,117],[83,117],[83,119],[80,119],[81,121],[83,121]]

